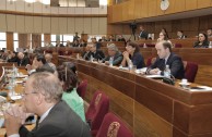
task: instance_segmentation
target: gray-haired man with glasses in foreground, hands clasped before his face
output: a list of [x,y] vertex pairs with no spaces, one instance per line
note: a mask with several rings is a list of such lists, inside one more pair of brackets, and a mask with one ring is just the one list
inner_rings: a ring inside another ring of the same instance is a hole
[[[62,87],[51,73],[34,73],[23,91],[23,107],[11,107],[4,113],[9,137],[91,137],[87,125],[61,101]],[[23,125],[24,114],[40,119],[32,132]]]

